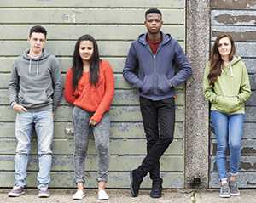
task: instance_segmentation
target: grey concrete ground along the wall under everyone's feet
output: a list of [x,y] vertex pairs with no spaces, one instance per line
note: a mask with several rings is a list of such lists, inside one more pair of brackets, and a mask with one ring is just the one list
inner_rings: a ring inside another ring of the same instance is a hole
[[147,189],[140,190],[137,198],[131,197],[128,189],[108,189],[108,201],[97,201],[96,189],[87,189],[83,200],[72,200],[74,189],[50,189],[47,199],[38,198],[36,189],[27,189],[25,195],[17,198],[9,198],[8,191],[0,189],[0,203],[256,203],[256,189],[243,189],[239,197],[227,199],[219,198],[216,189],[164,189],[160,199],[150,198]]

